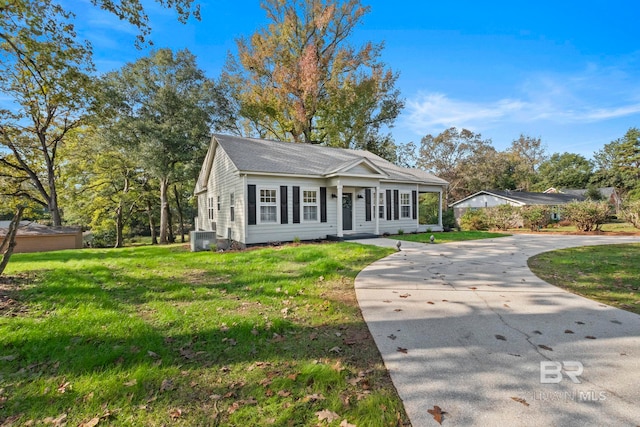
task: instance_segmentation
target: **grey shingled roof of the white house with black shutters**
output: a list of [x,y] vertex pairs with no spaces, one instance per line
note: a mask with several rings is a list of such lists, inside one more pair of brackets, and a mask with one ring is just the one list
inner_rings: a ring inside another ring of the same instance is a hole
[[[231,135],[213,135],[209,153],[203,165],[208,177],[213,161],[213,152],[222,148],[240,173],[266,173],[279,175],[304,175],[327,178],[349,175],[349,169],[364,165],[371,171],[369,176],[387,181],[415,182],[421,184],[446,185],[435,175],[417,169],[402,168],[364,150],[326,147],[313,144],[296,144]],[[206,178],[198,180],[198,189],[206,188]]]

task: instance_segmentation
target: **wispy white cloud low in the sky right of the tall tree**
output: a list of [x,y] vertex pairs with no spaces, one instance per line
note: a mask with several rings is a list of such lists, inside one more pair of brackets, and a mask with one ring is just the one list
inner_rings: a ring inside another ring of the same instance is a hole
[[406,102],[401,125],[416,135],[449,127],[484,131],[505,125],[597,123],[640,114],[635,84],[614,79],[616,70],[594,70],[561,78],[530,76],[519,97],[469,101],[441,92],[418,92]]

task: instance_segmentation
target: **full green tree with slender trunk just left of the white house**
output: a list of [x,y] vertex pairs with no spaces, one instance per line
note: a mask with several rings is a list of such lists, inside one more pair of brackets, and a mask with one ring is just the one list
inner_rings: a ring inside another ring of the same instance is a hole
[[168,243],[169,187],[179,164],[201,158],[222,97],[188,50],[160,49],[108,74],[103,126],[139,153],[138,164],[160,184],[160,243]]

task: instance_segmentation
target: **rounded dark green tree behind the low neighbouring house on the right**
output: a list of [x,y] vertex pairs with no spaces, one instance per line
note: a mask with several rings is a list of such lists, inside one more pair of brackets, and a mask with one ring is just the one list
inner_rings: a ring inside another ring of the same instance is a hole
[[593,175],[593,163],[580,154],[554,153],[538,167],[536,188],[586,188]]

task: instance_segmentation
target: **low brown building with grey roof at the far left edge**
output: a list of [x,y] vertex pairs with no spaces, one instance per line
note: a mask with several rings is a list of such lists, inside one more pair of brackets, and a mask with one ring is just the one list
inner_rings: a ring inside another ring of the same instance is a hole
[[[7,235],[9,221],[0,221],[0,240]],[[75,227],[47,227],[22,221],[16,233],[14,253],[46,252],[82,248],[82,230]]]

